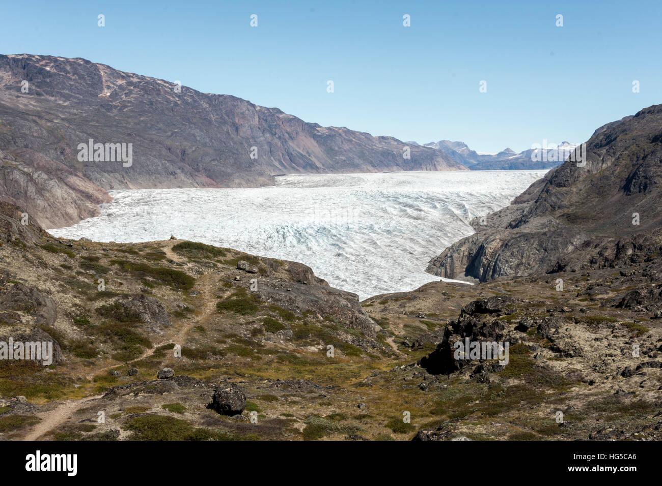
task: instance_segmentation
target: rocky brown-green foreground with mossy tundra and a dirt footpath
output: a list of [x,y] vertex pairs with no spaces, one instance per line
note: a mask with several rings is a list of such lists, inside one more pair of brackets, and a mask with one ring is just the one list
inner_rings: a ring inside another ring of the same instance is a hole
[[[0,341],[55,352],[0,360],[0,438],[662,439],[662,263],[639,247],[359,303],[303,264],[57,240],[21,213],[0,205]],[[508,364],[454,360],[467,337]]]

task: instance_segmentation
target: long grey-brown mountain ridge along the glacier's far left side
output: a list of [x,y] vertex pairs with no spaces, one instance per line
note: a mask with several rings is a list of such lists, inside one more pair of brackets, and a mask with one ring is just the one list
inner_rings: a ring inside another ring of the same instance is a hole
[[[465,169],[427,147],[410,146],[405,159],[406,143],[392,137],[176,89],[80,58],[0,56],[0,197],[44,227],[60,227],[93,216],[110,200],[108,189],[260,186],[281,173]],[[90,139],[131,143],[132,163],[80,161],[78,145]]]

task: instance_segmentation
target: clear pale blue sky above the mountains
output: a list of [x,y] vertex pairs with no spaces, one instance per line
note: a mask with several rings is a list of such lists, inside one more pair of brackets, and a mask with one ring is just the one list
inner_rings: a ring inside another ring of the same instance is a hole
[[485,152],[579,143],[662,102],[660,0],[32,0],[1,10],[0,54],[85,58],[404,141]]

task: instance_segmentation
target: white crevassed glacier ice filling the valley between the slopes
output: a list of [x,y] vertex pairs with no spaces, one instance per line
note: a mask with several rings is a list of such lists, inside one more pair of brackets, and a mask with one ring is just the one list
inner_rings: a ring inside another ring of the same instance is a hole
[[468,222],[493,212],[546,171],[287,175],[275,186],[111,191],[101,214],[58,237],[123,243],[201,241],[305,263],[331,286],[363,300],[413,290]]

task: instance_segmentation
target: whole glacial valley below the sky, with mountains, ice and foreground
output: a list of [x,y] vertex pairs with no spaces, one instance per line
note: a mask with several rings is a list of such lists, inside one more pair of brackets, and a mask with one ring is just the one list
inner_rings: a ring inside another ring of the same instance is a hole
[[0,87],[0,342],[53,349],[0,438],[662,438],[662,105],[505,173],[82,58]]

